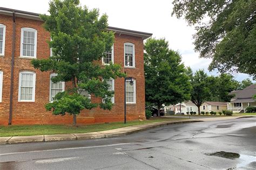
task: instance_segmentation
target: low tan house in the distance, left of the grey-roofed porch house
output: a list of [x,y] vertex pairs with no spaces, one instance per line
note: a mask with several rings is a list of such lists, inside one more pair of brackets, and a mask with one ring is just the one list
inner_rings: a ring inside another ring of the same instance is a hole
[[222,112],[223,110],[227,110],[227,103],[225,102],[204,102],[200,106],[200,111],[204,112]]

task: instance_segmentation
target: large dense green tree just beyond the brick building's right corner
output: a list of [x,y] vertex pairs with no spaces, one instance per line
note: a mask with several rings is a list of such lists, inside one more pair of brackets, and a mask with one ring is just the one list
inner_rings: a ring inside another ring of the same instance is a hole
[[146,102],[156,105],[190,100],[191,84],[181,56],[169,49],[165,39],[147,39],[144,54]]

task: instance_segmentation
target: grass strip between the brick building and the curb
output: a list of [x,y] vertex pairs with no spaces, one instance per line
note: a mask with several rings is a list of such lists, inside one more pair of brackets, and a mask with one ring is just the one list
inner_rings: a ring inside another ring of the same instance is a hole
[[146,121],[127,121],[126,124],[123,122],[114,123],[102,123],[102,124],[90,124],[81,126],[72,125],[11,125],[11,126],[0,126],[0,137],[6,136],[31,136],[37,134],[63,134],[63,133],[87,133],[97,132],[104,130],[111,130],[117,128],[124,128],[126,126],[140,125],[153,122],[163,121],[176,121],[184,118],[166,118],[152,117]]

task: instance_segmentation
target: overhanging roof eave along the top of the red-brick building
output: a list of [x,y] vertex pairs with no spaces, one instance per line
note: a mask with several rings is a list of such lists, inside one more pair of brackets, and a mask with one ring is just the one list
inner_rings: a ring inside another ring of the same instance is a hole
[[[15,13],[15,16],[17,16],[17,17],[41,20],[41,18],[39,17],[39,13],[33,13],[33,12],[27,12],[27,11],[21,11],[21,10],[0,7],[0,14],[12,16],[13,13]],[[126,34],[126,35],[130,35],[130,36],[142,37],[143,40],[152,36],[152,33],[120,29],[120,28],[112,27],[112,26],[108,26],[107,30],[113,31],[114,33],[117,33],[119,35]]]

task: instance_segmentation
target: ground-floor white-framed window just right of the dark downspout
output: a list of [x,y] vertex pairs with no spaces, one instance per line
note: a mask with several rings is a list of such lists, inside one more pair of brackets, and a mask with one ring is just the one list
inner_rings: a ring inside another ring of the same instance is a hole
[[19,102],[35,102],[36,73],[19,73]]

